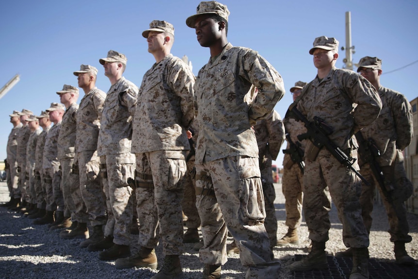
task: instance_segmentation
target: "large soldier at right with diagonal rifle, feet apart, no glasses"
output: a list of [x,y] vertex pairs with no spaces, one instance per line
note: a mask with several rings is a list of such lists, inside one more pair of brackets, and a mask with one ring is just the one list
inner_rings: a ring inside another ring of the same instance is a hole
[[[313,121],[314,116],[320,117],[333,131],[329,139],[356,159],[353,134],[377,118],[382,108],[379,95],[362,76],[335,67],[338,59],[338,41],[335,38],[316,38],[309,53],[313,55],[318,74],[305,86],[298,98],[300,100],[297,100],[297,108],[308,121]],[[343,226],[343,242],[345,246],[354,248],[350,278],[369,278],[369,235],[361,218],[359,201],[361,181],[328,149],[315,149],[310,140],[306,142],[303,206],[312,250],[301,261],[292,263],[290,268],[305,271],[328,267],[325,242],[330,228],[330,208],[324,206],[322,200],[323,190],[328,186]],[[357,162],[352,166],[358,170]]]

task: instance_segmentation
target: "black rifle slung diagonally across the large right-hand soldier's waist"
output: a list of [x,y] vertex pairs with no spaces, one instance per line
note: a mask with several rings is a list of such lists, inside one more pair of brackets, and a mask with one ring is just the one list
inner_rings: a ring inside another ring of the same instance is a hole
[[293,103],[290,105],[289,110],[292,112],[294,117],[297,120],[300,120],[305,123],[306,133],[298,135],[298,139],[300,141],[304,139],[310,139],[312,144],[319,149],[325,147],[334,158],[340,164],[345,165],[346,167],[350,168],[354,173],[366,184],[370,185],[369,181],[367,181],[357,170],[354,169],[353,164],[355,162],[355,158],[348,157],[344,151],[341,150],[334,142],[332,142],[328,135],[330,135],[333,131],[331,127],[327,126],[324,121],[319,118],[318,116],[314,116],[313,122],[310,122],[305,115],[303,115],[297,108],[297,103]]

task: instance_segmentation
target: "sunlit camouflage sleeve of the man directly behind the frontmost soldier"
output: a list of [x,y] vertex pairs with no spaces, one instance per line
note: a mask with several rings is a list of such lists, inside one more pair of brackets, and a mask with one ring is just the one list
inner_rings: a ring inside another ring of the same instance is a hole
[[171,89],[180,99],[182,112],[181,123],[184,129],[189,129],[194,119],[194,94],[193,86],[195,77],[186,64],[178,61],[170,71],[169,81]]

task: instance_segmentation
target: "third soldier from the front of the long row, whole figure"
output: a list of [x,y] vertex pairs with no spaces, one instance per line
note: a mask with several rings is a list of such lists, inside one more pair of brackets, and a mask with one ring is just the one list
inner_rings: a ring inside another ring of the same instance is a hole
[[107,57],[99,62],[112,84],[103,105],[97,140],[108,220],[105,238],[87,248],[90,251],[107,249],[99,253],[99,259],[111,261],[130,255],[133,202],[132,188],[127,181],[135,170],[135,155],[130,153],[130,148],[138,87],[122,76],[127,63],[124,54],[109,50]]

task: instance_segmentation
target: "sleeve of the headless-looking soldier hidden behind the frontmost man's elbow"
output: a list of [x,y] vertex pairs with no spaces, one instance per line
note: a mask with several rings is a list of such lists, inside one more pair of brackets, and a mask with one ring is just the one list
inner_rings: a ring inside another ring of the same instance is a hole
[[269,132],[269,151],[275,160],[285,140],[285,126],[276,111],[273,110],[272,114],[267,117],[266,127]]

